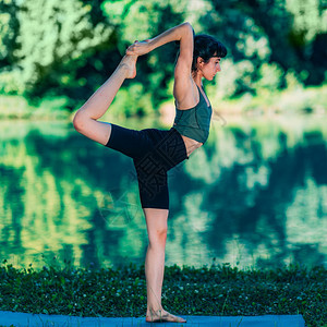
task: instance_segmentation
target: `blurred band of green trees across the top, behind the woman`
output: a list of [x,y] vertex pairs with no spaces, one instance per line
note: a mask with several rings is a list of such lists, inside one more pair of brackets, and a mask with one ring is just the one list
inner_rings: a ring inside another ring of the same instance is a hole
[[[183,21],[227,45],[216,81],[222,98],[282,89],[290,78],[304,86],[326,82],[327,10],[318,0],[5,0],[0,2],[0,93],[33,104],[66,97],[72,110],[105,82],[129,44]],[[140,58],[135,83],[144,87],[131,88],[135,107],[120,100],[120,111],[142,116],[171,99],[177,50],[166,45]],[[130,87],[123,86],[125,95]]]

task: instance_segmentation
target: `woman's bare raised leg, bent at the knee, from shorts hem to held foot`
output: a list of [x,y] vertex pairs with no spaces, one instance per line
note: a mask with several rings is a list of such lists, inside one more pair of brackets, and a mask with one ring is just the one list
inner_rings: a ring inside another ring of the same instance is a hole
[[73,124],[77,132],[106,145],[111,124],[97,121],[105,114],[125,78],[136,76],[137,56],[124,56],[112,75],[77,110]]

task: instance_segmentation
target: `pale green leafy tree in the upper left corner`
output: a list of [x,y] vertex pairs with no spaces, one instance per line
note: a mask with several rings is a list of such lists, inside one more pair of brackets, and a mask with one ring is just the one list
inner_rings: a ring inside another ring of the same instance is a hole
[[[61,86],[68,81],[73,87],[80,82],[76,70],[89,50],[108,41],[112,32],[104,23],[94,25],[92,7],[78,0],[10,1],[4,9],[7,21],[13,20],[10,15],[16,15],[19,21],[4,34],[15,35],[19,44],[12,53],[15,61],[0,72],[0,92],[7,94],[41,94],[39,87],[45,93],[51,85]],[[9,43],[8,37],[2,37],[1,52]],[[59,66],[65,72],[58,74]]]

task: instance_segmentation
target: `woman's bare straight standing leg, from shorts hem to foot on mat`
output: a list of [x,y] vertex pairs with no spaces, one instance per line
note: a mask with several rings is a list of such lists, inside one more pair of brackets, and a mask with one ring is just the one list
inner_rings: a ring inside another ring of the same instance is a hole
[[185,319],[168,313],[161,305],[167,219],[169,210],[155,208],[144,208],[143,210],[149,241],[145,259],[147,288],[146,322],[185,323]]

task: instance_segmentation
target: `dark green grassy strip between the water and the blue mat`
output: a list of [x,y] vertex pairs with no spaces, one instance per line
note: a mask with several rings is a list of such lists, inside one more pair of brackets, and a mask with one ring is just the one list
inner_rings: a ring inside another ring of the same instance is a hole
[[[239,270],[229,264],[166,267],[164,307],[182,315],[302,314],[327,326],[327,270],[299,265]],[[81,316],[144,316],[144,266],[94,270],[0,267],[0,310]]]

